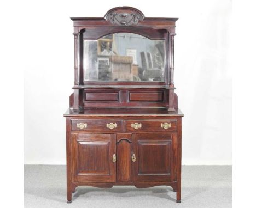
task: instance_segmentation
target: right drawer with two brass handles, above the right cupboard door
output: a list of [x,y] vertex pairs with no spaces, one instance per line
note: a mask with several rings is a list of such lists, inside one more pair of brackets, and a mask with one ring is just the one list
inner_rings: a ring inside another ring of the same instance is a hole
[[126,131],[176,131],[177,120],[127,120]]

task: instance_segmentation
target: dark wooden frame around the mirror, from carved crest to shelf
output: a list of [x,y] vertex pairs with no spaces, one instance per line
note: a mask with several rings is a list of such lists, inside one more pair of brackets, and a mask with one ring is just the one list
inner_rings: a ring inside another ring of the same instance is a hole
[[[178,18],[145,17],[132,7],[115,7],[104,17],[71,17],[74,26],[75,64],[74,87],[83,89],[94,85],[161,85],[174,89],[173,50],[175,22]],[[135,33],[149,39],[165,40],[165,80],[164,82],[98,82],[84,81],[83,39],[98,39],[112,33]],[[84,87],[83,87],[84,86]]]

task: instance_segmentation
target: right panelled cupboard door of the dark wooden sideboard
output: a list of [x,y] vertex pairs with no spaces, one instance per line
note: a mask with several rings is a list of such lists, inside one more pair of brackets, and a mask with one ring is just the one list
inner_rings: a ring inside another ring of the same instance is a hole
[[133,134],[133,181],[173,180],[172,134]]

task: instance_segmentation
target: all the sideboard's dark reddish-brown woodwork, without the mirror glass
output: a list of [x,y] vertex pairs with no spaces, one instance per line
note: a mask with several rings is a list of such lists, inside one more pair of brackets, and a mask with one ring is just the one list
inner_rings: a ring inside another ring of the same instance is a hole
[[[173,81],[178,19],[145,17],[132,7],[110,9],[104,17],[71,19],[74,92],[64,114],[67,202],[71,203],[72,192],[78,186],[163,185],[173,188],[180,203],[183,113],[178,109]],[[84,39],[96,40],[120,32],[165,41],[164,81],[84,81]],[[113,128],[109,128],[111,123]],[[141,126],[135,129],[135,123]]]

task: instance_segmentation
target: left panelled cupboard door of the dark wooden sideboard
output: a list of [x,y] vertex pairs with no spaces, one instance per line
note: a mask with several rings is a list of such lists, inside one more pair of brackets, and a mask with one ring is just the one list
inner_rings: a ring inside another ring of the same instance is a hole
[[72,180],[115,182],[116,135],[71,134]]

